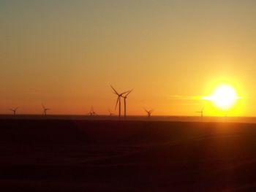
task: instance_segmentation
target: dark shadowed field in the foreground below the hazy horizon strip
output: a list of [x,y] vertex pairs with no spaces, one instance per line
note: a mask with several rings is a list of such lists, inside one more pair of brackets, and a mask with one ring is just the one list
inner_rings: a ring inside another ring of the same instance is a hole
[[0,191],[256,191],[256,126],[0,120]]

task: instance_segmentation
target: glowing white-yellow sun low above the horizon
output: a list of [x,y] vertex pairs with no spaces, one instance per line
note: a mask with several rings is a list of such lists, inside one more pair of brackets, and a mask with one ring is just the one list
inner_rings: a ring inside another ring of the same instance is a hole
[[219,85],[211,96],[205,96],[203,99],[208,99],[214,102],[214,104],[222,110],[228,110],[239,99],[235,88],[231,85]]

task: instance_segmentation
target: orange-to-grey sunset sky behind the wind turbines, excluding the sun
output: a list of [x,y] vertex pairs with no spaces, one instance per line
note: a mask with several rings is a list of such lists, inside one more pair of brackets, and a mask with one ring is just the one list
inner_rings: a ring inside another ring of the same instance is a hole
[[221,83],[242,99],[230,115],[256,116],[256,1],[0,0],[0,113],[225,112],[208,96]]

